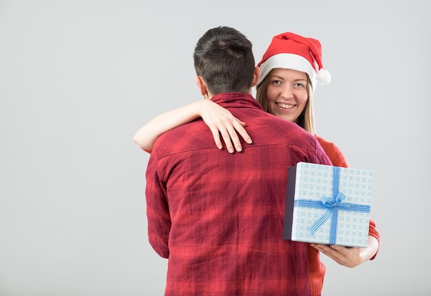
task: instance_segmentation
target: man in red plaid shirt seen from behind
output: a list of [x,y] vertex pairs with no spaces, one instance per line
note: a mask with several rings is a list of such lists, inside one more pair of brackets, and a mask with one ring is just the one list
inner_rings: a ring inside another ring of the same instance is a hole
[[254,100],[246,36],[208,30],[193,59],[200,93],[246,122],[253,144],[220,151],[202,119],[156,140],[145,194],[149,242],[169,259],[165,295],[309,295],[306,243],[282,240],[287,170],[331,163],[313,135]]

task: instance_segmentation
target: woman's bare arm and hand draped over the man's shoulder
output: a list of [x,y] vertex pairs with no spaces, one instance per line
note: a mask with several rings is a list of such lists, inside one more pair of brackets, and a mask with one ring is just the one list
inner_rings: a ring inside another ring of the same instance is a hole
[[233,146],[235,146],[237,151],[242,150],[237,133],[247,143],[252,142],[251,137],[244,129],[245,122],[240,121],[231,112],[211,100],[199,100],[198,102],[162,113],[140,128],[133,139],[140,148],[151,150],[154,142],[160,135],[172,128],[191,122],[198,117],[204,119],[205,124],[207,124],[213,134],[215,145],[219,149],[223,148],[220,134],[226,144],[227,150],[231,153],[234,152]]

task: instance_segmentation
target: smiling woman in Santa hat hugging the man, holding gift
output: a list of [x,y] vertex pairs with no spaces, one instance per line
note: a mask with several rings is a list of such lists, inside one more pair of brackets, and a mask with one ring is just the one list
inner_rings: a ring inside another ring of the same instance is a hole
[[[313,38],[286,32],[273,37],[271,44],[257,65],[260,77],[256,85],[256,100],[264,111],[277,115],[315,135],[313,91],[317,83],[330,82],[328,71],[322,66],[322,49]],[[215,144],[222,149],[220,135],[229,152],[242,150],[240,137],[251,143],[241,122],[211,100],[200,100],[154,118],[134,136],[134,141],[147,152],[157,137],[167,130],[202,117],[213,133]],[[238,133],[238,134],[237,134]],[[348,167],[348,161],[335,144],[315,135],[334,166]],[[235,147],[235,149],[234,149]],[[353,268],[372,260],[379,249],[380,236],[375,222],[370,219],[368,247],[348,248],[323,244],[308,244],[308,267],[312,295],[322,292],[325,266],[319,251],[341,265]]]

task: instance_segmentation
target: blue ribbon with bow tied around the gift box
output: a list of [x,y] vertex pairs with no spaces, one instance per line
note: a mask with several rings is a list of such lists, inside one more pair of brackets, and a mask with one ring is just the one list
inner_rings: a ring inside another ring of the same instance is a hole
[[329,244],[335,244],[337,241],[337,217],[338,210],[348,208],[351,211],[357,212],[370,212],[369,205],[358,205],[355,203],[343,203],[344,198],[346,196],[344,193],[339,192],[339,171],[340,168],[337,166],[333,167],[333,198],[328,196],[322,196],[321,201],[313,201],[313,200],[302,200],[302,201],[294,201],[294,207],[313,207],[315,209],[328,209],[324,216],[319,218],[313,226],[311,227],[311,235],[315,234],[315,232],[324,225],[326,220],[331,216],[331,225],[329,231]]

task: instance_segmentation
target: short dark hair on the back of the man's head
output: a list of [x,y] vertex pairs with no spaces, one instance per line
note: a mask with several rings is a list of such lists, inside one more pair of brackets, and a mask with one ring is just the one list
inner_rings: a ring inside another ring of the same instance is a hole
[[208,30],[196,43],[193,60],[196,74],[213,95],[246,93],[251,88],[255,68],[252,44],[238,30],[225,26]]

